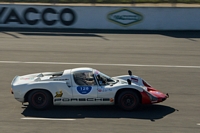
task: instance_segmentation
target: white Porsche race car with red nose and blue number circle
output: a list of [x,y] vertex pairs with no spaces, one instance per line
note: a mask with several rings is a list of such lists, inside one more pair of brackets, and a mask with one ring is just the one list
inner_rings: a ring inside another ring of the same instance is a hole
[[15,76],[11,93],[19,102],[35,109],[52,105],[119,105],[133,110],[140,104],[166,100],[144,79],[132,75],[109,77],[92,68],[74,68],[62,72],[44,72]]

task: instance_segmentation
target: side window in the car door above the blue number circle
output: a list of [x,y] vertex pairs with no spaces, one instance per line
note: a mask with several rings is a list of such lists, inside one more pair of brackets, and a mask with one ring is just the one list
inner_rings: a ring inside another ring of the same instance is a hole
[[94,75],[92,72],[76,72],[73,74],[74,81],[80,86],[93,86],[96,85]]

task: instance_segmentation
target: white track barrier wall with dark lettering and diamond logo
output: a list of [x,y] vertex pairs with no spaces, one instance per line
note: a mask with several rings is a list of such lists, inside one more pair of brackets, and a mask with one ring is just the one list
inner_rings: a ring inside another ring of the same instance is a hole
[[1,4],[0,27],[200,30],[200,8]]

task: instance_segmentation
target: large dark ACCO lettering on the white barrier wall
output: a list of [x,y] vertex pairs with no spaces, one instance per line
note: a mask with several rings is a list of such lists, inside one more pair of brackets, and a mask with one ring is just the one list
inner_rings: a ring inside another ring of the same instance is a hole
[[[70,16],[66,19],[66,15]],[[47,16],[56,16],[49,17]],[[4,19],[2,19],[4,18]],[[15,8],[0,8],[0,24],[18,23],[27,25],[37,25],[42,22],[44,25],[52,26],[61,23],[64,26],[73,25],[76,21],[76,14],[70,8],[62,10],[54,8],[44,8],[42,11],[34,7],[25,8],[22,12],[18,12]]]

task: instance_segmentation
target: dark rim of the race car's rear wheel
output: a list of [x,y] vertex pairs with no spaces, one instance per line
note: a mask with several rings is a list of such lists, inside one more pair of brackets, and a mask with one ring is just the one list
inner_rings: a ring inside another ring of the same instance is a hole
[[43,93],[35,93],[32,97],[32,102],[35,106],[42,107],[46,103],[46,96]]

